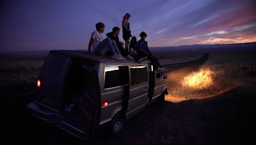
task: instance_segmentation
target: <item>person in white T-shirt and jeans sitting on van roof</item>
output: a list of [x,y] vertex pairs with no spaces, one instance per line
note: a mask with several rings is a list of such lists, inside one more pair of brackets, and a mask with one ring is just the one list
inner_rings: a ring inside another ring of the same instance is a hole
[[104,55],[106,54],[106,52],[109,52],[112,59],[122,60],[124,57],[120,55],[117,46],[113,44],[114,42],[111,41],[110,38],[102,38],[102,33],[105,30],[105,25],[99,22],[95,26],[97,31],[92,32],[88,46],[88,52],[91,52],[91,49],[97,55]]

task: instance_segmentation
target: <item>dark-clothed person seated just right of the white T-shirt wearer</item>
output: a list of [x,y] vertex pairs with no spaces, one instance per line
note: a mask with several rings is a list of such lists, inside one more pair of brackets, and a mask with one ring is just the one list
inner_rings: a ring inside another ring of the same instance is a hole
[[[121,55],[125,57],[125,59],[136,60],[136,61],[140,60],[141,58],[138,55],[131,57],[131,55],[129,55],[129,53],[125,51],[123,47],[124,43],[122,41],[119,41],[119,38],[118,38],[119,34],[120,34],[120,28],[113,27],[112,32],[109,32],[108,34],[106,34],[106,36],[108,36],[111,40],[115,41],[119,51],[121,52]],[[143,60],[140,60],[140,62],[142,61]]]

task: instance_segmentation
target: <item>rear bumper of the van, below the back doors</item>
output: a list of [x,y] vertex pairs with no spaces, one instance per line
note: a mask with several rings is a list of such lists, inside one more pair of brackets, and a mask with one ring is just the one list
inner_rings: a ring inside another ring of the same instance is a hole
[[29,109],[29,112],[33,114],[33,116],[36,116],[41,120],[47,121],[48,123],[55,124],[58,128],[65,130],[65,132],[68,132],[69,134],[72,134],[79,139],[87,139],[86,137],[84,137],[84,132],[81,129],[75,127],[74,123],[71,123],[71,121],[63,118],[63,116],[61,116],[60,114],[56,114],[51,110],[46,109],[39,104],[36,104],[35,102],[29,103],[27,107]]

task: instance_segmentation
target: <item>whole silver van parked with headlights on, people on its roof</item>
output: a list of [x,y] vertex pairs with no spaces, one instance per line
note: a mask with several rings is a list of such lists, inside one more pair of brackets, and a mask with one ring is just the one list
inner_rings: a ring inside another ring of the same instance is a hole
[[49,52],[37,80],[34,116],[81,139],[109,124],[117,134],[127,118],[164,101],[167,78],[150,62],[113,60],[86,51]]

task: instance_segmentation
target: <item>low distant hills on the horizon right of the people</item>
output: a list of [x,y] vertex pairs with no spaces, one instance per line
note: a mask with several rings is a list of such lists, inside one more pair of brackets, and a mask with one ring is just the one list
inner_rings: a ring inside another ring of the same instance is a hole
[[151,50],[180,50],[180,51],[256,51],[256,42],[254,43],[235,43],[225,45],[182,45],[182,46],[166,46],[152,47]]

